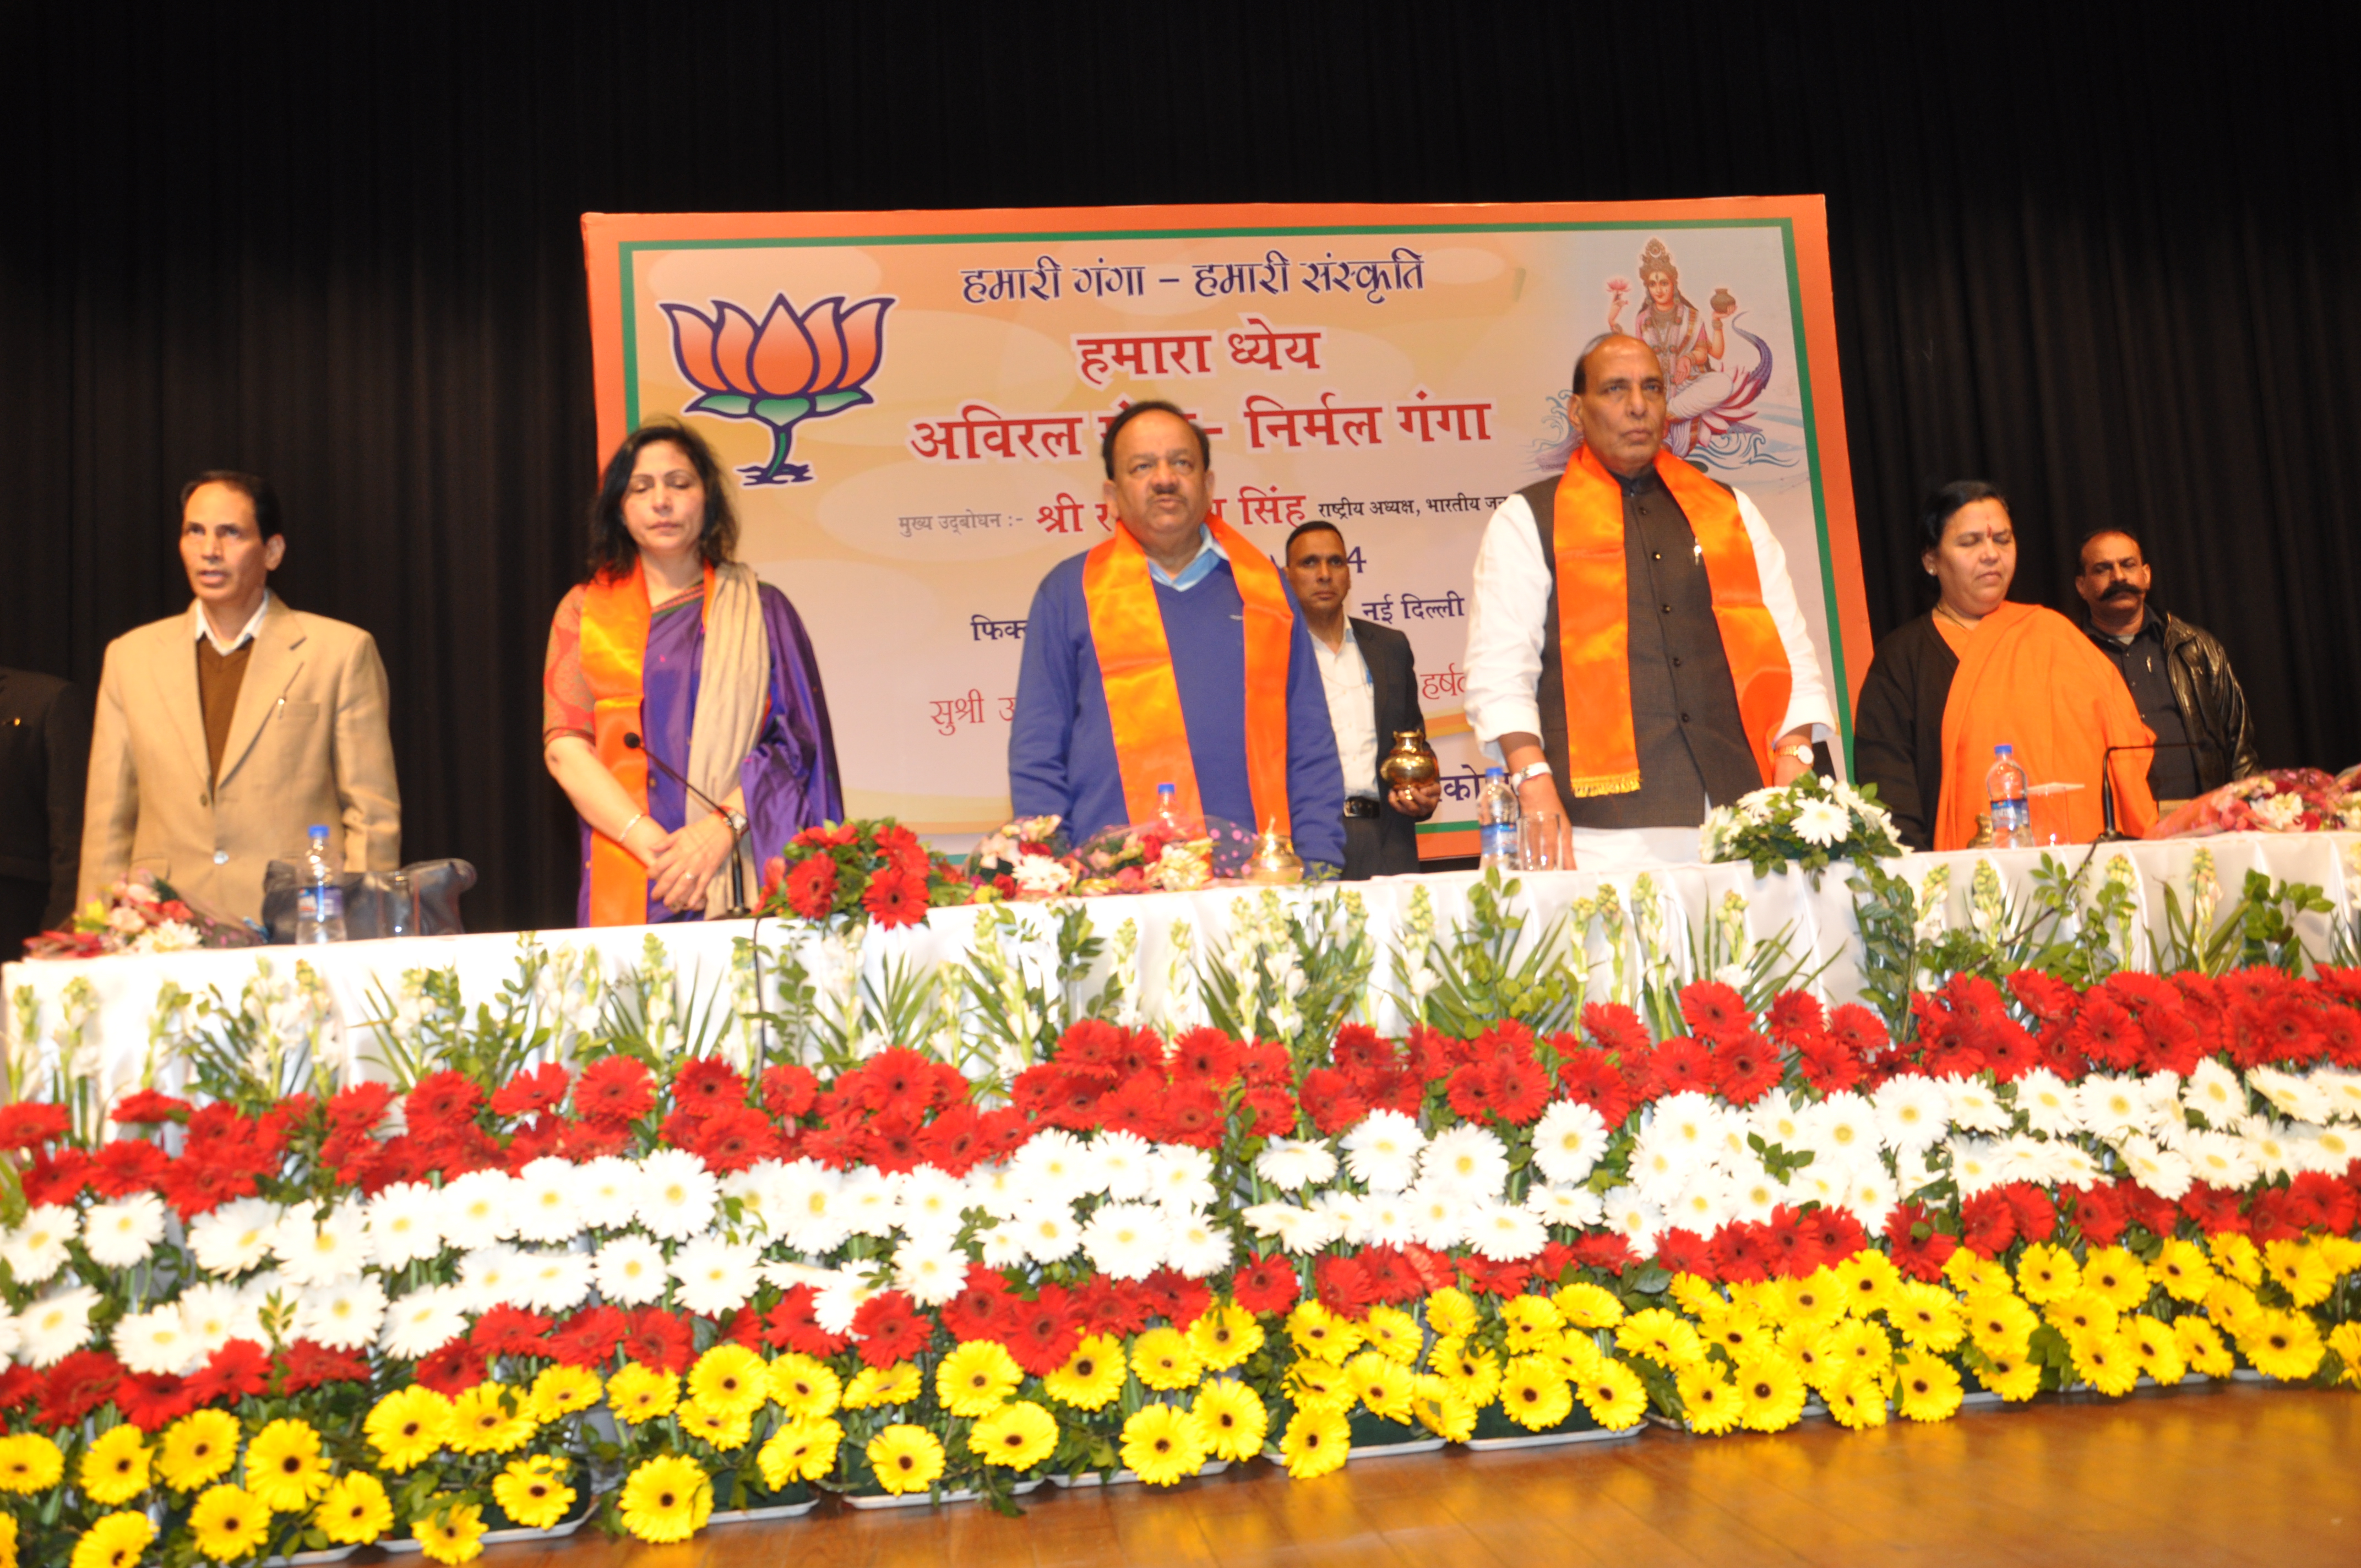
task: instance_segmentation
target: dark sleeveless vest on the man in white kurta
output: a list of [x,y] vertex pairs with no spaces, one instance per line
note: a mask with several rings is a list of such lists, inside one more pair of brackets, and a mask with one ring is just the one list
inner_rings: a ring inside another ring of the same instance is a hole
[[1520,491],[1542,536],[1549,569],[1549,614],[1542,621],[1542,753],[1558,782],[1558,803],[1572,827],[1698,827],[1705,801],[1728,805],[1761,789],[1761,767],[1738,718],[1738,685],[1714,590],[1672,491],[1655,470],[1624,482],[1624,614],[1631,628],[1631,734],[1639,744],[1639,789],[1622,796],[1575,798],[1565,779],[1565,671],[1558,666],[1558,482]]

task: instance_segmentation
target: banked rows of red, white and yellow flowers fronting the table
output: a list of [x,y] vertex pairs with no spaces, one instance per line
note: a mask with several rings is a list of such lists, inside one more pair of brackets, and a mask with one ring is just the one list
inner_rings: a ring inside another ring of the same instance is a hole
[[1084,1018],[985,1082],[486,1008],[399,1091],[236,1025],[210,1103],[17,1084],[0,1568],[2361,1381],[2361,973],[1669,1008]]

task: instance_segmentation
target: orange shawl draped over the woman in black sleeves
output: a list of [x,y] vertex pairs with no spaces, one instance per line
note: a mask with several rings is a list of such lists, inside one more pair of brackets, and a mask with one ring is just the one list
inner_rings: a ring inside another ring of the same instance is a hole
[[[2016,749],[2030,784],[2082,784],[2061,798],[2066,836],[2099,836],[2099,758],[2108,746],[2144,746],[2156,734],[2139,723],[2139,704],[2113,661],[2082,631],[2040,605],[2002,605],[1964,638],[1960,671],[1943,699],[1943,798],[1936,805],[1934,848],[1964,850],[1976,836],[1976,812],[1988,810],[1983,775],[1993,746]],[[2132,838],[2156,824],[2149,793],[2153,751],[2120,753],[2115,822]],[[2047,824],[2047,810],[2035,803]]]

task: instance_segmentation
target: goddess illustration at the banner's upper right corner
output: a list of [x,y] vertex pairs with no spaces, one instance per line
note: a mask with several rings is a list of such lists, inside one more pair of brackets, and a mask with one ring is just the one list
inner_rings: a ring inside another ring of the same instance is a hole
[[1631,283],[1608,279],[1608,331],[1631,333],[1665,366],[1665,446],[1676,458],[1761,460],[1761,432],[1750,427],[1750,411],[1771,385],[1771,345],[1733,321],[1738,298],[1728,288],[1712,293],[1707,305],[1714,314],[1707,319],[1681,293],[1681,269],[1662,239],[1650,239],[1639,253],[1639,281],[1646,300],[1624,326]]

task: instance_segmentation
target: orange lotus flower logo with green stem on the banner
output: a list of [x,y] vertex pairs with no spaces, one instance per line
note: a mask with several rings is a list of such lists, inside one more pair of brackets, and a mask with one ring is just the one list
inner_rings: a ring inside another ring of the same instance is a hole
[[829,295],[803,314],[781,293],[758,324],[744,307],[713,300],[706,316],[692,305],[663,305],[673,319],[673,364],[699,397],[682,413],[770,425],[770,463],[739,472],[746,484],[803,484],[810,463],[789,463],[796,425],[874,401],[866,383],[885,361],[888,298],[845,307]]

